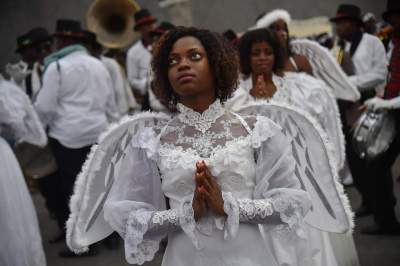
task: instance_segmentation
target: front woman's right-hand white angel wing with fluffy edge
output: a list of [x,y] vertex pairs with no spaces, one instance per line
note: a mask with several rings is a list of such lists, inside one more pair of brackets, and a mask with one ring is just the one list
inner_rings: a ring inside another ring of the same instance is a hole
[[327,232],[351,231],[353,220],[349,202],[338,182],[331,144],[318,123],[306,113],[278,103],[256,102],[239,112],[270,118],[291,139],[295,174],[313,203],[305,221]]

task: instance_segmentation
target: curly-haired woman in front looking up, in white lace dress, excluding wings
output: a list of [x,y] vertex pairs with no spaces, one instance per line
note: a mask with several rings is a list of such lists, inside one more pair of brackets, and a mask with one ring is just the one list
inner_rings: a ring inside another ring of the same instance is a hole
[[178,27],[160,39],[152,67],[175,115],[141,115],[104,205],[128,262],[152,260],[168,236],[164,266],[278,265],[259,224],[296,235],[310,200],[280,127],[225,109],[234,50],[208,30]]

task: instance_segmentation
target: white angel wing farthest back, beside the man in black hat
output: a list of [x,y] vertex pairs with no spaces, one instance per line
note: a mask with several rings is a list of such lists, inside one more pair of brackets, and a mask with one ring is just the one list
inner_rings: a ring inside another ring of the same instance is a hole
[[313,68],[313,74],[333,89],[336,98],[352,102],[360,99],[360,92],[350,82],[328,49],[306,39],[293,40],[290,45],[294,53],[307,57]]

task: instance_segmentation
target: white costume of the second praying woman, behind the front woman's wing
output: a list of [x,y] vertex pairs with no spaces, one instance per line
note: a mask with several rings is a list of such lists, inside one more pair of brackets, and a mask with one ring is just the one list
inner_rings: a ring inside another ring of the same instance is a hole
[[[273,82],[277,87],[272,100],[295,106],[311,115],[328,136],[327,148],[333,152],[336,169],[344,163],[344,140],[336,102],[326,85],[307,74],[287,72],[285,76],[274,75]],[[250,91],[252,79],[242,81],[243,90]],[[249,96],[250,101],[254,98]],[[334,146],[332,146],[334,144]],[[350,206],[344,203],[349,216]],[[358,256],[351,235],[337,235],[307,228],[309,249],[313,255],[310,265],[357,266]]]

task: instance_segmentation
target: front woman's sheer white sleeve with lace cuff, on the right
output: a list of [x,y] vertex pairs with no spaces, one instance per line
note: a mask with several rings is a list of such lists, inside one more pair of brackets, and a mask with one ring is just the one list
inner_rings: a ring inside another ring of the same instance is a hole
[[289,141],[264,117],[257,118],[252,139],[257,149],[254,198],[235,199],[231,193],[223,193],[228,215],[226,236],[236,235],[239,222],[278,226],[279,230],[297,233],[311,201],[295,177]]

